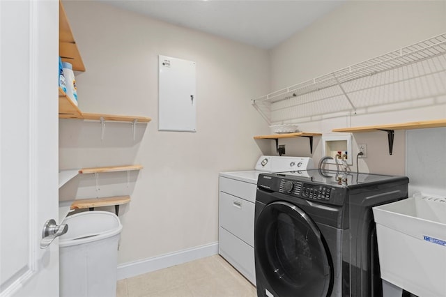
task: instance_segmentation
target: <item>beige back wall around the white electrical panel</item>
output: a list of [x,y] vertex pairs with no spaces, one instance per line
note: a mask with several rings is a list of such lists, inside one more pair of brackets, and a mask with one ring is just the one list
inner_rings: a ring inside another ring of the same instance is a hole
[[[261,155],[252,137],[268,130],[249,100],[269,91],[268,52],[102,3],[63,4],[86,66],[77,75],[80,109],[153,119],[137,125],[135,141],[129,123],[107,123],[101,141],[98,122],[60,121],[61,169],[144,166],[121,208],[119,263],[217,242],[218,173],[252,168]],[[158,54],[197,62],[196,133],[157,131]],[[94,177],[79,178],[72,183],[87,190],[77,197],[95,195]],[[102,195],[126,176],[99,180]]]

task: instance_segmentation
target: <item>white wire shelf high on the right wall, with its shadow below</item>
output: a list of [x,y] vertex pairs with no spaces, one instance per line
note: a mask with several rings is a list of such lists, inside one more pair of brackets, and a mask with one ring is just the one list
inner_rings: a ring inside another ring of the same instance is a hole
[[253,99],[268,123],[446,94],[446,33]]

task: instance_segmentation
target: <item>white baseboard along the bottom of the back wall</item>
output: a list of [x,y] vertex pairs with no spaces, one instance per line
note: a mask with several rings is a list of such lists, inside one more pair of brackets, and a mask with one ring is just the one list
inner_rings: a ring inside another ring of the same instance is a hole
[[118,265],[118,280],[218,254],[218,242]]

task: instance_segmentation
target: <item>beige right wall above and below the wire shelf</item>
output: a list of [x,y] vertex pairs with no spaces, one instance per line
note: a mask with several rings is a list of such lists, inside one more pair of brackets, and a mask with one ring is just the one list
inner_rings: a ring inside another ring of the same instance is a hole
[[[446,1],[347,1],[270,51],[271,91],[445,32]],[[420,95],[416,98],[420,100],[411,102],[410,106],[407,102],[406,105],[380,105],[357,114],[302,121],[300,130],[326,135],[333,128],[443,119],[446,116],[444,95],[437,98]],[[371,92],[360,99],[379,100],[379,97],[380,93]],[[321,138],[317,138],[313,155],[316,161],[322,153]],[[305,155],[309,154],[307,142],[307,139],[288,139],[282,143],[286,144],[288,155]],[[353,157],[358,152],[357,144],[367,144],[368,151],[368,158],[360,161],[360,171],[405,173],[404,131],[395,132],[393,155],[388,153],[385,132],[355,133]]]

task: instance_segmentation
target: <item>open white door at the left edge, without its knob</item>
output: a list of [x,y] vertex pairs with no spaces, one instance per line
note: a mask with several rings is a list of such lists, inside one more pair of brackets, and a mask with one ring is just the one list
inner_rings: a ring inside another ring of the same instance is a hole
[[58,296],[59,2],[0,0],[0,296]]

